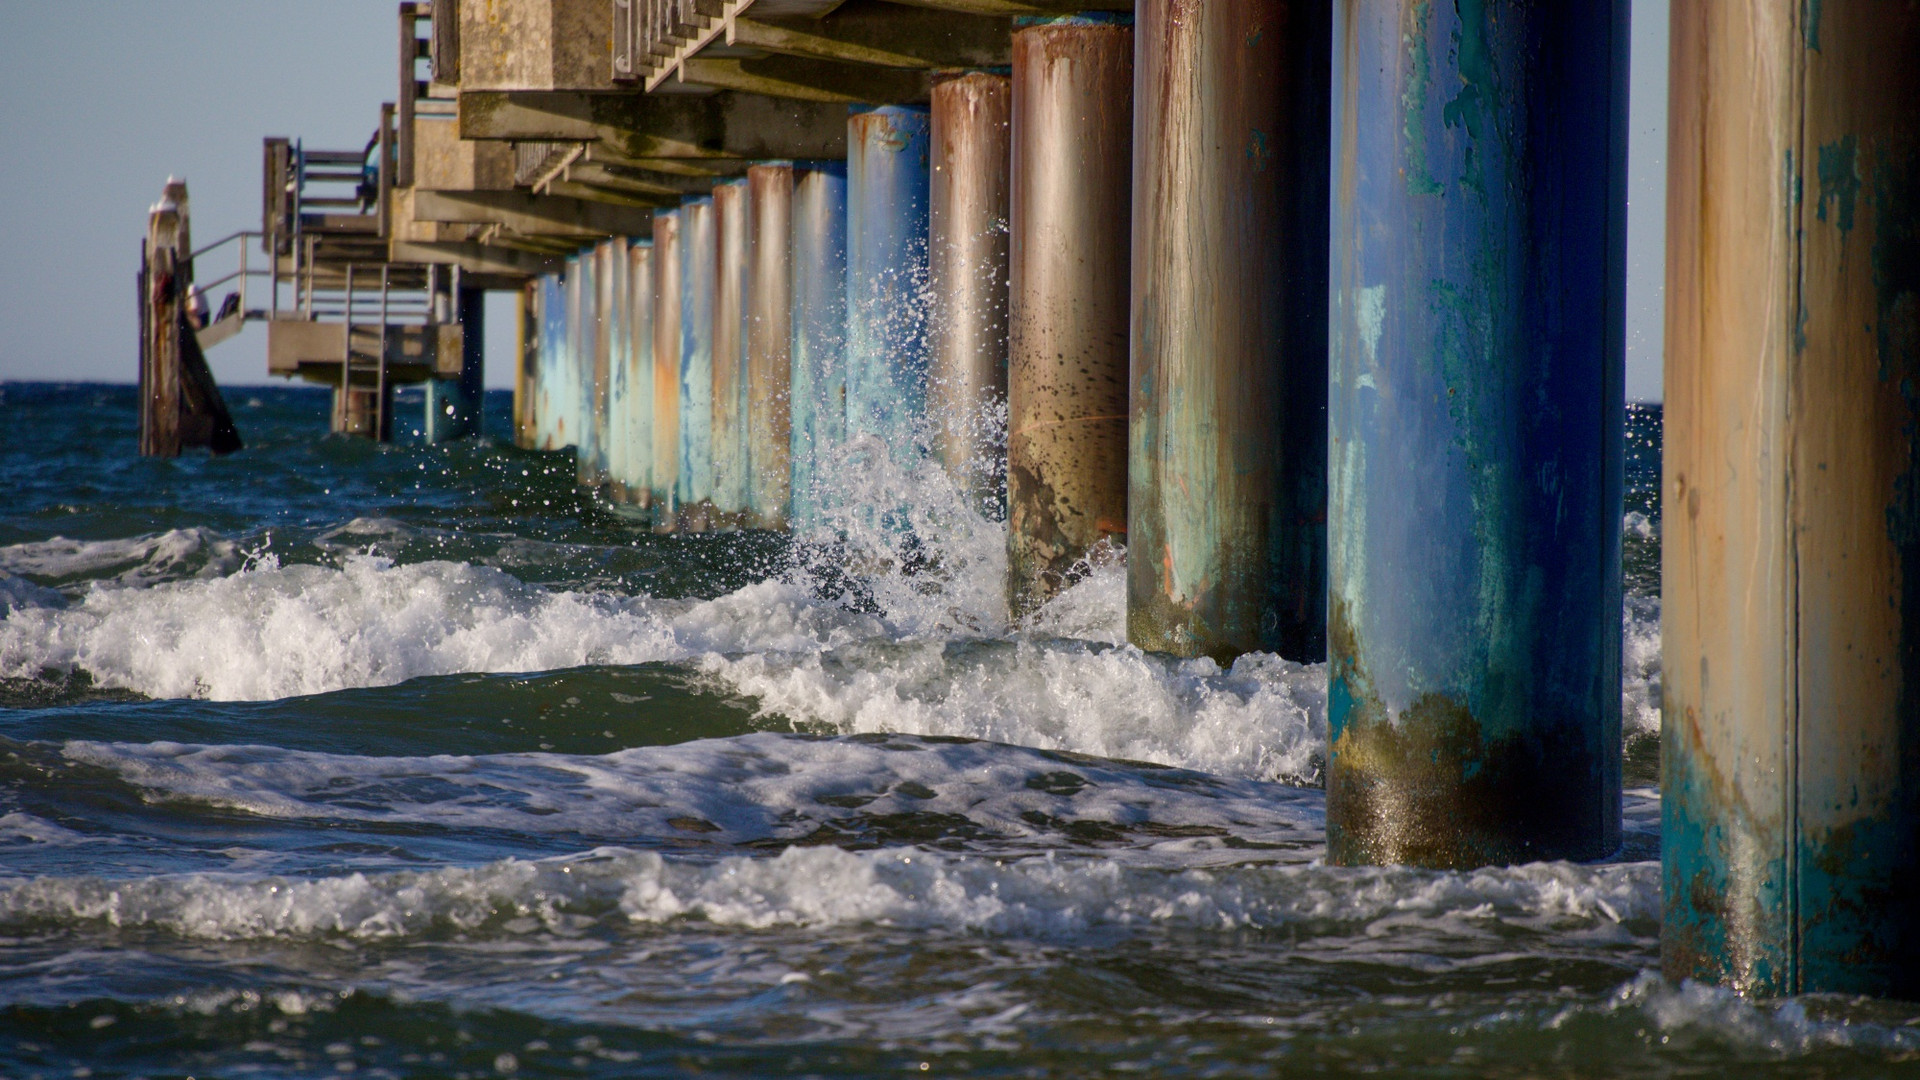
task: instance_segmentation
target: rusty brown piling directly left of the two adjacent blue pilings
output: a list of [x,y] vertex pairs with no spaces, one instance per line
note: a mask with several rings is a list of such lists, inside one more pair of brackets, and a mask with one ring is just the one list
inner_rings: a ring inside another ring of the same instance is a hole
[[785,528],[793,480],[793,163],[747,169],[747,525]]

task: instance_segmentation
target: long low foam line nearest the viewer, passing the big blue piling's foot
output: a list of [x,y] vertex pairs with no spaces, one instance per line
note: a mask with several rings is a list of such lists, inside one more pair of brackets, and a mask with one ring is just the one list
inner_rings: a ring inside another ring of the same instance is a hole
[[1653,863],[1411,869],[1167,871],[1108,859],[987,859],[908,847],[787,847],[768,859],[597,849],[334,878],[169,874],[0,880],[0,928],[96,922],[198,940],[578,932],[593,922],[701,920],[766,930],[877,924],[993,936],[1361,930],[1567,934],[1659,919]]

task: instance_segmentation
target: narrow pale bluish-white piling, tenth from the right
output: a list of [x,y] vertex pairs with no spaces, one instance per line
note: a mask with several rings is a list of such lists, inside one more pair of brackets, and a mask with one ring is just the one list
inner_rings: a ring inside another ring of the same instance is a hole
[[705,532],[714,509],[714,200],[680,204],[680,528]]

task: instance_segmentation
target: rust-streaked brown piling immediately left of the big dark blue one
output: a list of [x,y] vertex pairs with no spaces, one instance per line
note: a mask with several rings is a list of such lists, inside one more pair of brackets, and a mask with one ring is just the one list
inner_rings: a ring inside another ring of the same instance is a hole
[[1327,4],[1135,15],[1127,638],[1319,659]]

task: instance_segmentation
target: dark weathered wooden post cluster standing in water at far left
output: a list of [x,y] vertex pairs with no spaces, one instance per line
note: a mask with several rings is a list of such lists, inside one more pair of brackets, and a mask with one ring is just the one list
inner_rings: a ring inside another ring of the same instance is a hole
[[194,284],[186,183],[167,179],[140,248],[140,454],[179,457],[186,446],[240,450],[240,432],[200,352],[186,298]]

